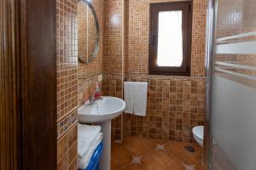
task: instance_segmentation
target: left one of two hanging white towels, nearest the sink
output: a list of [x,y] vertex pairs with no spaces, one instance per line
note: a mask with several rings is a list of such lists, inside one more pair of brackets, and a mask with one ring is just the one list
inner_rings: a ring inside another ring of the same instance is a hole
[[133,104],[134,104],[134,83],[124,82],[125,91],[125,113],[133,114]]

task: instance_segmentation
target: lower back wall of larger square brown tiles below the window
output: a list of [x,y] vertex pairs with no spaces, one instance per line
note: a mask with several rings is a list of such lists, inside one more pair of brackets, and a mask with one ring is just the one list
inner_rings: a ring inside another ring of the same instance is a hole
[[[148,77],[127,78],[148,82]],[[124,135],[193,141],[192,127],[203,125],[204,77],[149,77],[147,116],[124,116]]]

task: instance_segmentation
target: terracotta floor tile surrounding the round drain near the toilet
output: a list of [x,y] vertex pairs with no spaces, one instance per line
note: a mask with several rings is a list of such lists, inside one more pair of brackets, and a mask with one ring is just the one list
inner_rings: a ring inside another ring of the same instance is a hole
[[[195,148],[194,153],[190,153],[187,150],[184,150],[184,146],[192,146]],[[165,149],[172,154],[172,156],[177,157],[180,161],[187,165],[195,165],[202,159],[202,150],[198,144],[188,144],[181,142],[170,142],[165,145]]]

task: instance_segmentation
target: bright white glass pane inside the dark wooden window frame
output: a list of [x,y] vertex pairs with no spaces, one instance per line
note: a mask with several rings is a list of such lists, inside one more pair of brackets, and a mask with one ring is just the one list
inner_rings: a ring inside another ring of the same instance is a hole
[[161,11],[158,23],[157,65],[183,64],[183,12]]

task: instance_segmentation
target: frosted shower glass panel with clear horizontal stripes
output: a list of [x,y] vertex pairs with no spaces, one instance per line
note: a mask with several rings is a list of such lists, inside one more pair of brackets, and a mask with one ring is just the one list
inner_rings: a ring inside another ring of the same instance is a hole
[[256,1],[215,1],[211,167],[256,169]]

